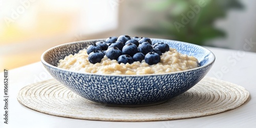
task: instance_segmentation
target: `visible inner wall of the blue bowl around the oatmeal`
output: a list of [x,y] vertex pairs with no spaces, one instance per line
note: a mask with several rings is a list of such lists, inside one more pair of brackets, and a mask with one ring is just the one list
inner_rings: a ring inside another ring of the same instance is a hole
[[[165,42],[171,48],[177,49],[178,52],[182,54],[187,54],[189,56],[194,56],[198,59],[199,65],[205,66],[207,63],[211,63],[215,60],[215,56],[208,49],[203,48],[198,45],[189,44],[187,42],[168,40],[168,39],[157,39],[151,38],[152,42]],[[65,58],[70,54],[78,53],[79,50],[87,48],[91,44],[95,44],[97,41],[104,41],[105,39],[93,39],[85,41],[71,42],[69,44],[63,44],[53,47],[42,54],[42,61],[47,62],[49,65],[57,67],[59,59]]]

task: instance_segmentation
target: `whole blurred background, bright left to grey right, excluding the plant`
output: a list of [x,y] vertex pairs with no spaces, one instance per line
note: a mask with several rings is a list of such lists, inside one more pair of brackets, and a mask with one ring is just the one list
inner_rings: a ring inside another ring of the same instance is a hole
[[[244,10],[230,10],[226,18],[215,22],[226,37],[209,40],[206,45],[244,50],[252,43],[246,51],[256,52],[256,1],[240,2]],[[147,0],[0,0],[0,68],[13,69],[40,61],[45,50],[71,41],[121,34],[169,38],[136,31],[142,26],[155,27],[166,18],[165,13],[146,7],[146,3]]]

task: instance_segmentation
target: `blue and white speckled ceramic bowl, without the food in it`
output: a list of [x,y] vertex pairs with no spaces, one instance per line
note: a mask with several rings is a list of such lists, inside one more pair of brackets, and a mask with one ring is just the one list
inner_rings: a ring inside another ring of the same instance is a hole
[[103,75],[57,68],[59,59],[103,40],[84,40],[53,47],[42,54],[41,62],[55,79],[81,97],[108,105],[137,106],[158,104],[186,92],[207,74],[215,61],[215,55],[201,46],[152,38],[153,42],[165,42],[180,53],[196,57],[200,67],[150,75]]

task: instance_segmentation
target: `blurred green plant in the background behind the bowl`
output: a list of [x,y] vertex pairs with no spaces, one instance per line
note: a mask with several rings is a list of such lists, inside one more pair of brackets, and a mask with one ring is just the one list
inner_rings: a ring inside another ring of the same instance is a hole
[[149,2],[146,6],[165,16],[158,18],[156,27],[141,27],[137,31],[198,45],[224,37],[225,32],[216,28],[214,22],[225,17],[232,8],[243,8],[237,0],[162,0]]

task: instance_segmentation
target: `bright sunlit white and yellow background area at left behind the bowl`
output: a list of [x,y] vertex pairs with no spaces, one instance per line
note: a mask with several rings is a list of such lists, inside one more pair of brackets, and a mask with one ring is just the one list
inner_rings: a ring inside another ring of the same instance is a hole
[[47,49],[104,38],[118,27],[112,0],[0,0],[0,69],[40,61]]

